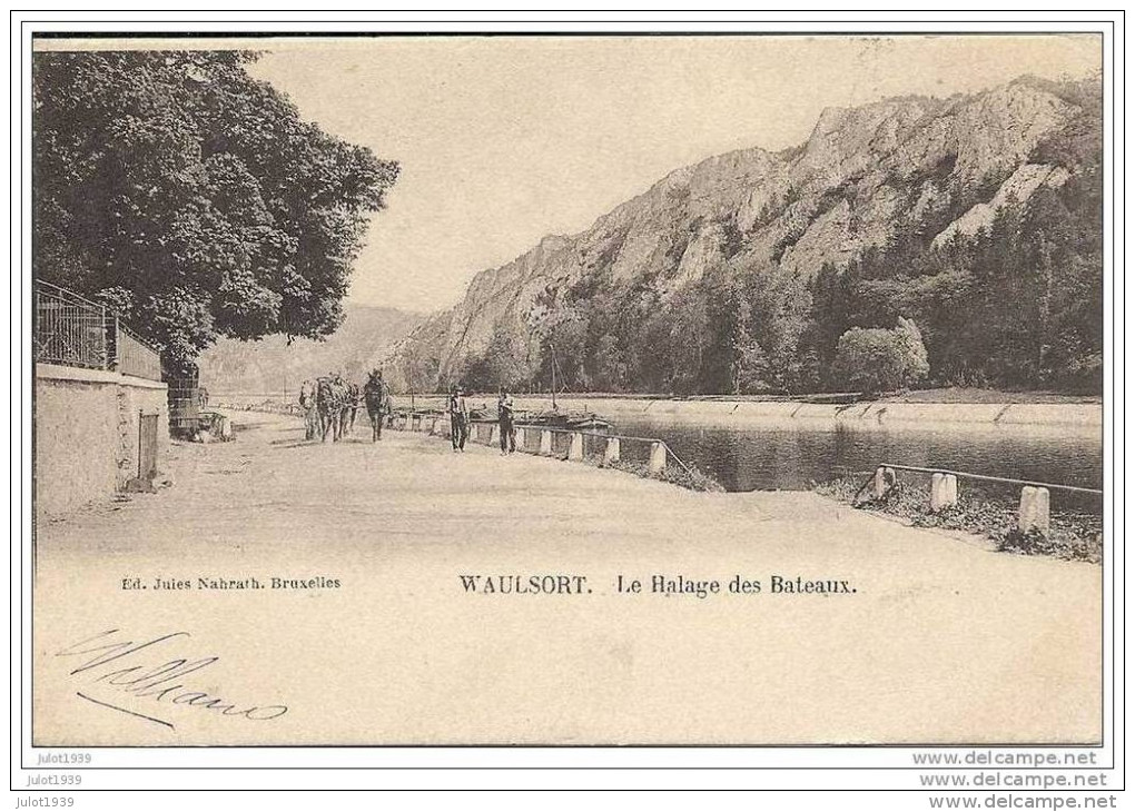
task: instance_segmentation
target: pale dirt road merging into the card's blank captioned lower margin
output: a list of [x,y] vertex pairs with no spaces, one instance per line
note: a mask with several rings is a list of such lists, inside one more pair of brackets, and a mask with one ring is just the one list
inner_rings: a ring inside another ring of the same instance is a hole
[[[306,443],[297,421],[235,418],[235,442],[174,448],[173,488],[41,523],[37,743],[1100,737],[1099,567],[809,493],[695,493],[400,432]],[[470,593],[462,575],[572,593]],[[664,597],[656,575],[721,591]],[[731,593],[734,576],[762,591]],[[773,576],[854,592],[773,592]],[[70,674],[98,654],[58,652],[109,629],[190,636]],[[286,713],[224,717],[107,676],[207,657],[166,686]]]

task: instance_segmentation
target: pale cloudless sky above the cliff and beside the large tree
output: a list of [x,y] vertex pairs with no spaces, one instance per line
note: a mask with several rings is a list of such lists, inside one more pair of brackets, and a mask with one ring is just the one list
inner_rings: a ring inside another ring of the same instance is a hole
[[1082,77],[1092,35],[352,37],[258,41],[250,71],[400,162],[353,304],[428,312],[682,166],[807,139],[827,107]]

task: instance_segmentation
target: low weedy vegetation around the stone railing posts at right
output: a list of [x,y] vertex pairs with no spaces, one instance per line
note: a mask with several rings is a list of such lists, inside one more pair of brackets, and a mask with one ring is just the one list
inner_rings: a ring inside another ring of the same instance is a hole
[[1102,513],[1053,509],[1046,536],[1035,531],[1022,533],[1017,530],[1017,505],[1008,496],[962,490],[957,505],[932,513],[928,483],[900,480],[883,499],[874,500],[863,488],[867,476],[843,476],[816,484],[814,490],[863,510],[898,516],[915,527],[942,527],[982,535],[992,540],[1002,552],[1092,564],[1102,560]]

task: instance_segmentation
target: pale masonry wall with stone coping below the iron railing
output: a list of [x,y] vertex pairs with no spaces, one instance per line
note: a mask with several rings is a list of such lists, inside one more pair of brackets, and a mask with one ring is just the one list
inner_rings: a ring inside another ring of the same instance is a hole
[[158,417],[158,468],[169,450],[166,384],[102,370],[35,365],[36,510],[60,514],[120,491],[138,472],[140,413]]

